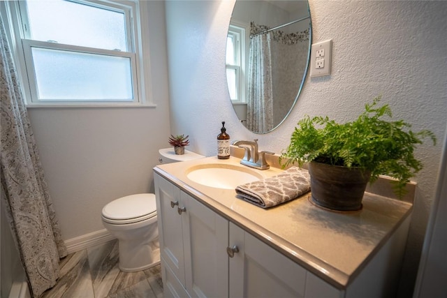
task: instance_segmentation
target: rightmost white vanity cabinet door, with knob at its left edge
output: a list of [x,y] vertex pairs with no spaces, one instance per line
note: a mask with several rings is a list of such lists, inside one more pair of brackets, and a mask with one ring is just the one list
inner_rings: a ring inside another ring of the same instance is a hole
[[230,223],[230,297],[304,297],[306,270]]

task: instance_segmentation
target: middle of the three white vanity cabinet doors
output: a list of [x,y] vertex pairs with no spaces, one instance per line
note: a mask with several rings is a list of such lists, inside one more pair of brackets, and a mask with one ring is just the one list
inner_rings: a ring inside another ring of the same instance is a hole
[[186,290],[191,297],[228,297],[228,221],[181,192]]

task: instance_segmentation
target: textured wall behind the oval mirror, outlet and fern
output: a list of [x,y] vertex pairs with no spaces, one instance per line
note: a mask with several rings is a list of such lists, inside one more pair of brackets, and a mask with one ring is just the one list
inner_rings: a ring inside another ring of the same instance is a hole
[[232,140],[259,139],[277,153],[288,145],[305,114],[348,121],[382,94],[396,119],[439,138],[416,151],[425,165],[417,177],[416,204],[404,261],[402,295],[416,278],[447,121],[446,1],[309,0],[313,40],[332,39],[332,75],[307,78],[291,116],[265,135],[247,131],[233,112],[225,77],[226,31],[234,1],[167,1],[171,131],[191,137],[191,148],[216,155],[226,121]]

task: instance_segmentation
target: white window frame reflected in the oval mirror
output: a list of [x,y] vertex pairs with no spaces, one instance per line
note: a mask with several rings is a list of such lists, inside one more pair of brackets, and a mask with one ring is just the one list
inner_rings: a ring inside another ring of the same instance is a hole
[[233,50],[235,52],[235,60],[236,64],[226,64],[227,69],[235,69],[236,70],[236,89],[237,89],[237,98],[235,100],[231,100],[232,103],[246,103],[246,94],[247,94],[247,82],[245,79],[247,67],[247,59],[248,57],[248,47],[249,43],[247,39],[249,38],[249,25],[244,24],[242,22],[230,22],[230,27],[228,28],[228,36],[233,36],[233,40],[236,42],[233,43],[235,47]]

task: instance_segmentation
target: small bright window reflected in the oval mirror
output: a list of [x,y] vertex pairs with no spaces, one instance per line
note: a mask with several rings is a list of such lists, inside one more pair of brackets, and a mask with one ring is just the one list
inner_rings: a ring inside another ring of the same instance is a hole
[[226,77],[233,103],[245,102],[245,31],[230,24],[226,38]]

